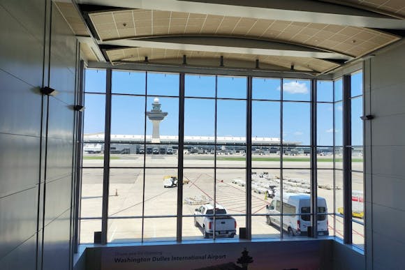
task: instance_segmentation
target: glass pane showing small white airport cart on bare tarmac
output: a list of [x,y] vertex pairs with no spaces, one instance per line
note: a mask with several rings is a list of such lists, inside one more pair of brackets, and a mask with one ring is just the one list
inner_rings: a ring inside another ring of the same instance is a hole
[[177,181],[177,169],[145,170],[145,216],[177,215]]

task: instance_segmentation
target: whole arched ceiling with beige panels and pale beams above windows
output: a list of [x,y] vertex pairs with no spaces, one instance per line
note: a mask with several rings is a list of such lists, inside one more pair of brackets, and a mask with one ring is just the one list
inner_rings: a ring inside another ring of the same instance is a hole
[[[297,9],[297,3],[307,5]],[[77,0],[57,6],[82,38],[85,58],[113,64],[316,75],[400,40],[405,30],[404,0]]]

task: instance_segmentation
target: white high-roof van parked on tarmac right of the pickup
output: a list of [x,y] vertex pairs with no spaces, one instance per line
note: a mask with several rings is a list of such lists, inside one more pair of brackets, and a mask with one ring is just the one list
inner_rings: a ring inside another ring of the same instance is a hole
[[[280,227],[281,202],[279,195],[276,195],[270,205],[267,205],[267,213],[277,216],[266,216],[268,225]],[[308,236],[308,227],[311,226],[311,200],[309,195],[284,193],[283,213],[290,216],[283,216],[283,230],[291,237]],[[307,213],[307,215],[305,215]],[[329,235],[327,222],[327,206],[323,197],[318,197],[318,235]]]

